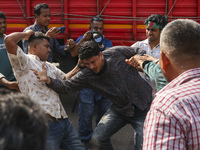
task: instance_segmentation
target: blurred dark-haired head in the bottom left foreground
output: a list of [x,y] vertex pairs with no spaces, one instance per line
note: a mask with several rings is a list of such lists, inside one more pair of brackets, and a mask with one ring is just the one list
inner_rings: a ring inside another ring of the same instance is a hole
[[44,150],[46,113],[21,92],[0,88],[0,149]]

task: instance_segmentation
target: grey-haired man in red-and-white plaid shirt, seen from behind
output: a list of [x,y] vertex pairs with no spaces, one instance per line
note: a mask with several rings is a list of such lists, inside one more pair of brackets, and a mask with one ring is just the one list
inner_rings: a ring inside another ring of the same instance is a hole
[[200,25],[172,21],[160,44],[160,67],[170,83],[146,116],[143,149],[200,149]]

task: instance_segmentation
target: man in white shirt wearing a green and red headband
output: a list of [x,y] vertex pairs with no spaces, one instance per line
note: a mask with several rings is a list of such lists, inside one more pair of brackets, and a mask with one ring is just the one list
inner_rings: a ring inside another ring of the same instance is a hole
[[[152,14],[144,22],[144,24],[147,25],[147,39],[138,41],[131,47],[142,48],[146,51],[147,55],[150,55],[158,60],[160,57],[160,34],[167,23],[168,20],[165,16],[160,14]],[[157,92],[155,82],[144,73],[140,73],[140,75],[151,85],[154,95]]]

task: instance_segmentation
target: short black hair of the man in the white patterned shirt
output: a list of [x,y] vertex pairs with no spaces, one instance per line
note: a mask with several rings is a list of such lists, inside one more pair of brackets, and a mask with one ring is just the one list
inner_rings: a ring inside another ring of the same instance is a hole
[[46,40],[48,40],[50,42],[50,37],[49,36],[47,36],[46,34],[44,34],[42,32],[35,32],[29,37],[28,43],[30,45],[35,40],[42,40],[42,39],[46,39]]

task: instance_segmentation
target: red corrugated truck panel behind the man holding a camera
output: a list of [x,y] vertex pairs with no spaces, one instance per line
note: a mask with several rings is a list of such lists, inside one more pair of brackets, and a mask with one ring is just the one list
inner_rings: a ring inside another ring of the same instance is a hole
[[[102,18],[104,19],[105,37],[111,39],[114,42],[114,45],[117,45],[119,40],[132,42],[132,21],[130,21],[130,19],[128,21],[128,18],[124,18],[132,17],[132,0],[111,0],[109,3],[108,0],[99,1],[99,13],[101,13]],[[107,3],[108,5],[106,6]],[[104,7],[105,9],[102,11]],[[77,20],[69,20],[71,25],[69,29],[70,37],[76,39],[80,36],[80,32],[83,34],[88,31],[91,17],[98,15],[97,1],[84,0],[83,3],[83,1],[69,0],[69,14],[85,16],[69,17],[77,18]],[[81,25],[76,26],[77,24]]]

